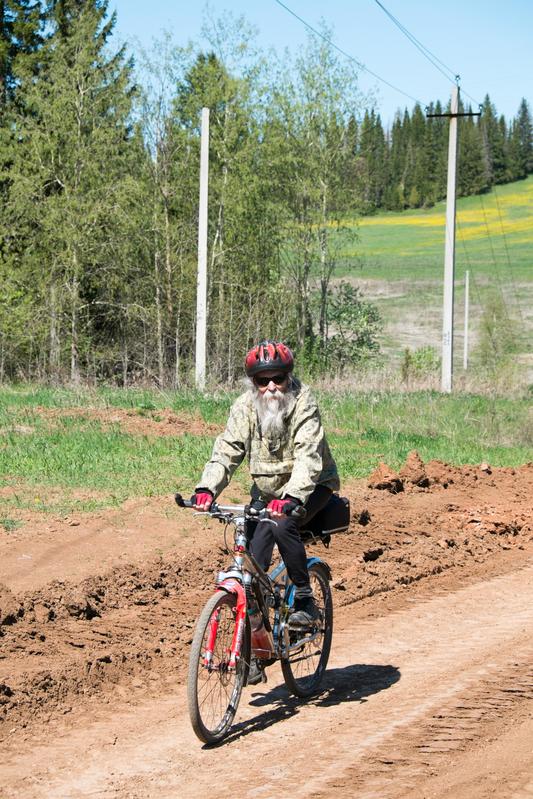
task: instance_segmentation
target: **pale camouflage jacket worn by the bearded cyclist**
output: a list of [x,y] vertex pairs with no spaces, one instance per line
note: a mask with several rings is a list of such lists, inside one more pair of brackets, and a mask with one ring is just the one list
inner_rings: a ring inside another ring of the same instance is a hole
[[275,438],[261,434],[252,395],[249,391],[242,394],[231,408],[226,429],[215,441],[197,489],[208,488],[217,496],[244,458],[267,501],[289,495],[305,502],[317,485],[339,489],[337,466],[307,386],[298,385],[291,395],[286,428]]

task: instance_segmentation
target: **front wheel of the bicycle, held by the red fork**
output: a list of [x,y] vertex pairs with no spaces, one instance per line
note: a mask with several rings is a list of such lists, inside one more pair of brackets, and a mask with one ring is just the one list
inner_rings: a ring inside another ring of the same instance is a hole
[[[241,657],[235,669],[228,667],[235,630],[237,597],[217,591],[206,602],[198,619],[189,657],[187,697],[194,732],[204,743],[217,743],[229,730],[250,661],[250,626],[245,625]],[[212,658],[206,657],[211,640]]]

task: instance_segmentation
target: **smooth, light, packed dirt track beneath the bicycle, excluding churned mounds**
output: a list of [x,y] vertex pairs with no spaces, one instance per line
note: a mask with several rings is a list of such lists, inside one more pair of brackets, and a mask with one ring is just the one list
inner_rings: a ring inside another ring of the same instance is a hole
[[[290,699],[272,670],[267,686],[243,695],[234,734],[215,750],[199,748],[183,691],[120,716],[110,711],[7,758],[6,797],[197,799],[213,785],[223,799],[418,797],[417,786],[475,750],[490,725],[511,730],[526,718],[533,562],[386,617],[347,618],[315,699]],[[527,756],[524,769],[533,766]],[[528,796],[531,772],[511,780],[505,759],[498,767],[500,788],[513,782],[499,799]],[[475,787],[462,796],[488,795]]]

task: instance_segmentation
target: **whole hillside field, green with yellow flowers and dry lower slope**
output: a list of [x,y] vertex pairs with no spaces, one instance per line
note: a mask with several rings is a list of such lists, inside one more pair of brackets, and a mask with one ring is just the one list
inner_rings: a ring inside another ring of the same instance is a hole
[[[354,235],[356,234],[356,235]],[[336,279],[359,285],[379,308],[380,344],[397,361],[406,347],[440,347],[445,203],[364,217],[333,232]],[[455,336],[462,361],[464,277],[470,272],[472,349],[489,297],[521,332],[521,362],[533,381],[533,176],[457,202]]]

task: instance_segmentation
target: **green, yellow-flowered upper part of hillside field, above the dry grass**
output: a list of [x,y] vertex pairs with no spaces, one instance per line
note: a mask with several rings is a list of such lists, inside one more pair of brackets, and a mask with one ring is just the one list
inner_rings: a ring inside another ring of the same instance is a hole
[[[338,276],[442,279],[444,202],[434,208],[363,217],[337,234]],[[359,240],[354,243],[353,230]],[[457,201],[456,276],[533,280],[533,176]]]

